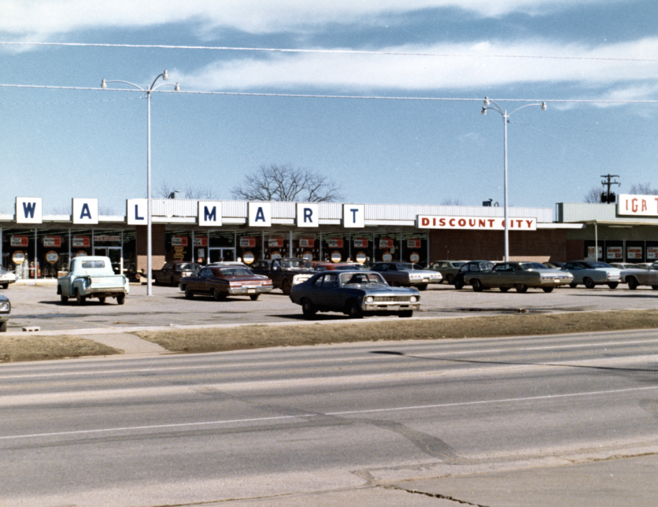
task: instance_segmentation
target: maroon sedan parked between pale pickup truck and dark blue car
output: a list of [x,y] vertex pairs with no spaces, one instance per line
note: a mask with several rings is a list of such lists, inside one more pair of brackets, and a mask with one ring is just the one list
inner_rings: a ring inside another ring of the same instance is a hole
[[240,266],[206,266],[192,276],[180,279],[180,290],[191,299],[195,294],[212,296],[216,301],[227,296],[249,296],[256,301],[258,296],[273,290],[272,281],[263,275],[254,275]]

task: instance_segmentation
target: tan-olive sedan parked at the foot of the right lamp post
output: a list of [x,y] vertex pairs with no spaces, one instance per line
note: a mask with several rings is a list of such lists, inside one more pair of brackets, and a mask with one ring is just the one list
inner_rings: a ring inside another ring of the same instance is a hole
[[506,293],[515,288],[517,293],[525,293],[528,288],[541,288],[550,293],[555,287],[566,285],[574,280],[570,273],[559,273],[539,262],[499,262],[492,269],[469,271],[464,275],[464,283],[476,292],[485,288],[500,288]]

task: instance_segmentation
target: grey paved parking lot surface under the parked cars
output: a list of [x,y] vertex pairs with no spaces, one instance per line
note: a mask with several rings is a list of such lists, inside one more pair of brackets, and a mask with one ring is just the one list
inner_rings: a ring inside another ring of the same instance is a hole
[[[286,323],[302,320],[302,309],[291,303],[280,290],[265,294],[258,301],[247,297],[230,297],[215,301],[211,297],[186,299],[178,287],[154,286],[154,295],[146,295],[146,286],[132,284],[125,304],[114,299],[101,304],[97,299],[77,306],[75,300],[60,302],[56,286],[14,284],[3,295],[10,297],[12,317],[8,332],[23,327],[41,330],[93,329],[102,327],[136,327],[162,325],[259,324]],[[629,290],[598,287],[592,290],[558,288],[547,294],[531,289],[525,294],[514,290],[485,290],[474,293],[470,288],[455,290],[446,284],[433,285],[421,293],[422,310],[417,317],[464,317],[468,315],[507,314],[518,312],[549,313],[591,310],[653,309],[658,304],[658,291],[649,287]],[[388,317],[387,317],[388,318]],[[390,317],[394,319],[395,317]],[[317,321],[347,319],[342,314],[318,314]]]

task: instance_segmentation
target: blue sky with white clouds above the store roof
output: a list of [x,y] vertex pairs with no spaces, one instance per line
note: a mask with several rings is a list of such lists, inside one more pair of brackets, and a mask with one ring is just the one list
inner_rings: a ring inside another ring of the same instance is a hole
[[657,18],[650,0],[3,0],[0,42],[341,51],[0,45],[0,84],[97,88],[0,87],[0,212],[16,196],[47,214],[146,197],[146,100],[99,85],[164,69],[184,92],[479,100],[154,93],[154,197],[167,182],[230,199],[261,164],[291,164],[350,202],[502,206],[502,117],[480,115],[485,96],[548,102],[510,117],[511,206],[581,202],[607,173],[618,193],[658,187],[658,103],[563,102],[658,100]]

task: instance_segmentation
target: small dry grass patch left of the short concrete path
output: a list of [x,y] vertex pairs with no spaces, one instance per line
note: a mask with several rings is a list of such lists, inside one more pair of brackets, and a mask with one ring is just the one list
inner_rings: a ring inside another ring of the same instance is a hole
[[77,336],[0,336],[0,362],[110,356],[121,351]]

